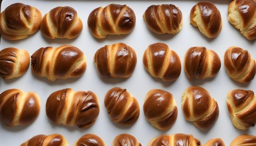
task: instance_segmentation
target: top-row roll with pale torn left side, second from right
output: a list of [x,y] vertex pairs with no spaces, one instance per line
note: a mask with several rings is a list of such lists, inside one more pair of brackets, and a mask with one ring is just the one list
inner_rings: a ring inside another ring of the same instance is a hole
[[190,24],[208,38],[216,38],[222,29],[220,11],[212,2],[198,2],[190,11]]

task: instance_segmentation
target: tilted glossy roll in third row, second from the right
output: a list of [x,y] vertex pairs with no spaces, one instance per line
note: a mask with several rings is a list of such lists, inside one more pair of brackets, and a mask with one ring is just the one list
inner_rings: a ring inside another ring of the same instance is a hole
[[218,119],[218,103],[209,92],[199,86],[190,86],[182,94],[182,110],[187,121],[200,129],[211,128]]

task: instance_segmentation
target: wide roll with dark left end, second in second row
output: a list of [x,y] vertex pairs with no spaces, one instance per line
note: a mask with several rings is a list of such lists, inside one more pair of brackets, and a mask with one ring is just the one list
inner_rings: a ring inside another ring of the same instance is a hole
[[48,80],[81,77],[86,70],[84,53],[75,46],[42,47],[31,55],[31,71]]

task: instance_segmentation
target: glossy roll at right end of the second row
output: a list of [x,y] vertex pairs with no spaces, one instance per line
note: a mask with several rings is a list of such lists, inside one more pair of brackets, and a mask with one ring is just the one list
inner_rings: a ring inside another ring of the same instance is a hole
[[256,63],[251,54],[238,46],[231,46],[224,54],[224,65],[231,79],[249,83],[256,74]]

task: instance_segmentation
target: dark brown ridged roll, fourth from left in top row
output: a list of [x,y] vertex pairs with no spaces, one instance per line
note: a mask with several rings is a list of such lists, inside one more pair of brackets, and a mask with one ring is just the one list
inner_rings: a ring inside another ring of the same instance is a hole
[[143,18],[148,28],[157,34],[176,34],[183,26],[182,12],[174,4],[151,5]]

